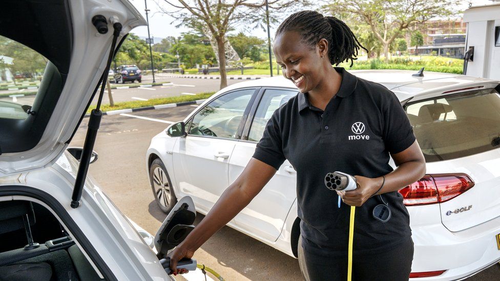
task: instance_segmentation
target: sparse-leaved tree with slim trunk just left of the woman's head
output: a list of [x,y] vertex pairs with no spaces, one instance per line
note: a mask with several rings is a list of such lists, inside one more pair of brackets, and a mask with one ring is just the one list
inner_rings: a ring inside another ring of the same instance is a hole
[[[227,86],[225,40],[226,34],[233,25],[242,20],[255,22],[255,18],[262,18],[263,14],[255,11],[264,7],[264,1],[258,3],[250,0],[163,0],[165,3],[179,10],[167,11],[160,9],[174,18],[181,20],[181,24],[193,26],[203,24],[212,33],[217,43],[220,71],[220,89]],[[269,9],[285,9],[307,4],[307,0],[269,0]]]

